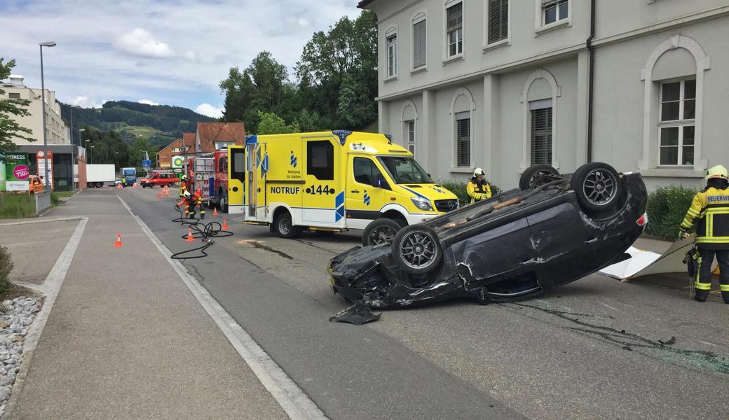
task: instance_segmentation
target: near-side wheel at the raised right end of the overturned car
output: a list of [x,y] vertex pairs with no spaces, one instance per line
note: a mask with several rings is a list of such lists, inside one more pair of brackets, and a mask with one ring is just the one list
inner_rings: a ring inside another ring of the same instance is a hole
[[620,175],[607,163],[593,162],[578,167],[569,184],[586,213],[611,210],[622,194]]

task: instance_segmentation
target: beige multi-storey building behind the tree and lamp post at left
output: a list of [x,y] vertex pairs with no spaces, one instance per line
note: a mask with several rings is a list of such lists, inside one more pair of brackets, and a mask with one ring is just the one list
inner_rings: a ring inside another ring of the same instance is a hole
[[28,106],[30,115],[28,116],[12,116],[18,124],[33,130],[33,134],[29,137],[35,138],[33,143],[22,138],[12,139],[13,143],[19,146],[25,145],[42,145],[43,144],[43,117],[42,108],[46,113],[46,130],[48,144],[71,144],[69,137],[69,127],[61,119],[61,105],[55,101],[55,92],[52,90],[45,91],[45,106],[41,103],[41,90],[26,87],[23,84],[22,76],[10,76],[9,81],[1,82],[1,88],[5,91],[4,95],[0,95],[0,100],[5,99],[26,99],[31,101]]

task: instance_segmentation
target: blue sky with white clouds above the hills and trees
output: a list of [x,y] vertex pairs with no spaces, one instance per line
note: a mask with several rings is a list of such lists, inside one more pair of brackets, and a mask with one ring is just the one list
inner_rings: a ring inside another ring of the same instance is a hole
[[0,0],[0,58],[64,103],[184,106],[219,116],[218,83],[262,50],[292,68],[306,41],[358,0]]

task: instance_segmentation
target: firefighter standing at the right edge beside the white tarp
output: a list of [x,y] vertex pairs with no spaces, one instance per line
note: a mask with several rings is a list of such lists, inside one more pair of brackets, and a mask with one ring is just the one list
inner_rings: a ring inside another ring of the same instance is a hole
[[712,289],[712,263],[717,257],[720,287],[724,303],[729,304],[729,175],[722,165],[706,173],[706,188],[693,197],[691,207],[681,222],[679,236],[687,237],[687,230],[696,223],[698,272],[694,288],[695,299],[706,302]]

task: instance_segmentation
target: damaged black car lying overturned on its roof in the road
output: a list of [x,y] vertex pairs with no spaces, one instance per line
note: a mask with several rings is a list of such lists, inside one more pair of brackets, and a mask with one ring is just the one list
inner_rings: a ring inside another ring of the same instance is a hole
[[534,296],[627,258],[647,223],[646,199],[639,173],[534,166],[520,189],[407,226],[391,245],[337,255],[332,288],[358,308]]

